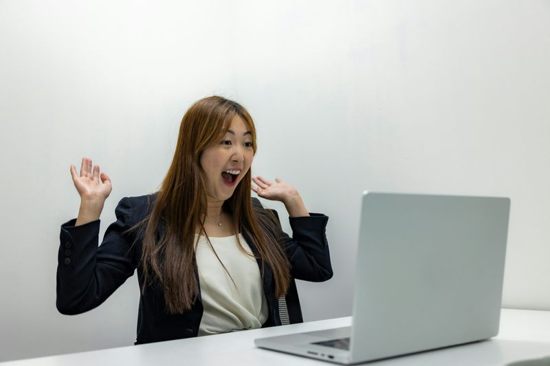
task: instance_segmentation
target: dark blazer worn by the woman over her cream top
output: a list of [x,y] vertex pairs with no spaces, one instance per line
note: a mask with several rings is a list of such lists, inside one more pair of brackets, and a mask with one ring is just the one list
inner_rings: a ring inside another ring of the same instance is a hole
[[[122,198],[115,209],[117,220],[109,225],[99,247],[100,220],[75,227],[76,219],[73,219],[61,225],[56,299],[59,312],[80,314],[95,308],[131,277],[135,268],[141,288],[142,242],[135,240],[134,233],[124,231],[151,212],[155,198],[155,194]],[[263,209],[256,198],[252,199],[255,207]],[[325,235],[328,219],[322,214],[290,218],[292,238],[281,232],[292,277],[314,282],[332,277]],[[254,242],[246,236],[245,239],[257,254]],[[263,262],[258,261],[258,265],[265,271],[263,290],[269,308],[263,326],[281,325],[273,273]],[[196,271],[195,276],[198,281]],[[197,336],[203,313],[200,292],[195,304],[184,314],[168,314],[165,307],[162,285],[157,282],[148,286],[140,296],[136,344]]]

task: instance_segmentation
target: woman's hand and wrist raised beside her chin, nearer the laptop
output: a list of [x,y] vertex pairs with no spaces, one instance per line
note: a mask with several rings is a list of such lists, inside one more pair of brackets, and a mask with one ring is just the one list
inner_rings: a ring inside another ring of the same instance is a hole
[[292,185],[276,178],[275,183],[268,181],[262,176],[252,177],[252,181],[257,187],[252,185],[252,190],[261,198],[273,201],[281,201],[285,204],[287,211],[291,217],[309,216],[309,212],[305,207],[302,197],[298,194],[298,190]]

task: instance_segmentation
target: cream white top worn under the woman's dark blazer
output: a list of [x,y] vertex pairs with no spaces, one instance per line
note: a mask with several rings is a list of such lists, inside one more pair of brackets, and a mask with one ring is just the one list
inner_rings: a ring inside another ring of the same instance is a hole
[[210,237],[215,253],[206,237],[199,237],[195,257],[204,308],[199,336],[261,328],[267,319],[258,262],[240,233],[239,240],[250,255],[241,251],[236,236]]

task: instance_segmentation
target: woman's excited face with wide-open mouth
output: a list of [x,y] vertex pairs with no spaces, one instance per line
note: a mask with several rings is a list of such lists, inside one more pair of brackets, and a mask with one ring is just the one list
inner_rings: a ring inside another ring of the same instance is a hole
[[206,148],[201,155],[201,167],[206,173],[206,194],[214,201],[230,198],[250,169],[254,149],[248,124],[235,115],[227,133],[219,143]]

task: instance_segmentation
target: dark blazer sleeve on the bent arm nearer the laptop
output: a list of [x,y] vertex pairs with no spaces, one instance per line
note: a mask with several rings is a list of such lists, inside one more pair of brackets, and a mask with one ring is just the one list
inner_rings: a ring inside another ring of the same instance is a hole
[[289,218],[292,238],[283,232],[290,275],[312,282],[327,281],[333,275],[326,227],[329,220],[323,214]]

